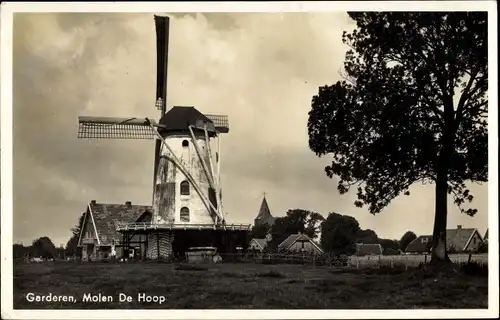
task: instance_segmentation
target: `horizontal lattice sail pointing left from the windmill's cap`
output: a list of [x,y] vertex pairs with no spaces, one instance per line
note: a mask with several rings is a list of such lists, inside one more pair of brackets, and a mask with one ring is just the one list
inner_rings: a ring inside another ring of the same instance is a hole
[[156,134],[145,119],[78,117],[78,138],[154,140]]

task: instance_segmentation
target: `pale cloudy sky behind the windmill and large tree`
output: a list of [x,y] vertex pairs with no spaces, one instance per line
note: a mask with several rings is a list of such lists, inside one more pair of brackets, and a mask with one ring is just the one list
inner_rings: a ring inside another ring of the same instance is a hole
[[[222,185],[231,223],[251,223],[263,192],[281,216],[304,208],[352,215],[399,239],[431,233],[433,186],[415,185],[373,216],[340,196],[327,158],[308,148],[318,87],[339,80],[354,27],[344,13],[171,16],[168,106],[229,115]],[[158,117],[152,14],[16,14],[14,18],[14,241],[66,243],[86,204],[150,204],[152,141],[76,138],[79,115]],[[451,205],[448,227],[487,228],[487,187],[472,186],[476,217]]]

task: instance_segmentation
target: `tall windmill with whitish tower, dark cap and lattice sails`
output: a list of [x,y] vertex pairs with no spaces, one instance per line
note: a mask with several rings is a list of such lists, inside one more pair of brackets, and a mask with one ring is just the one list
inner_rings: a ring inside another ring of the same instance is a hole
[[228,117],[202,114],[194,107],[174,106],[167,110],[169,18],[155,15],[154,20],[155,107],[160,110],[160,120],[80,116],[78,121],[80,139],[156,141],[151,222],[116,226],[123,233],[143,229],[148,235],[149,258],[169,257],[174,236],[182,230],[246,231],[250,227],[228,225],[223,211],[220,136],[229,132]]

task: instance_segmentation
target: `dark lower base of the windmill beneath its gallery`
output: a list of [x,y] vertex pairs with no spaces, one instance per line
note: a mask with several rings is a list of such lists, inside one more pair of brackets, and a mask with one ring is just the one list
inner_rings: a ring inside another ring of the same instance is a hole
[[[136,260],[172,260],[185,258],[192,247],[215,247],[224,260],[246,250],[248,229],[199,228],[199,229],[121,229],[126,256],[134,248]],[[135,235],[144,235],[141,243],[131,243]]]

